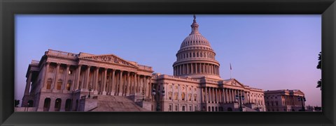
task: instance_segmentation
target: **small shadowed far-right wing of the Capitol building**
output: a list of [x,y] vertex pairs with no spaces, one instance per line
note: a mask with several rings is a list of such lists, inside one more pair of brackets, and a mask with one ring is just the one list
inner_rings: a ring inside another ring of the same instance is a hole
[[265,103],[267,111],[302,111],[304,93],[301,90],[267,90]]

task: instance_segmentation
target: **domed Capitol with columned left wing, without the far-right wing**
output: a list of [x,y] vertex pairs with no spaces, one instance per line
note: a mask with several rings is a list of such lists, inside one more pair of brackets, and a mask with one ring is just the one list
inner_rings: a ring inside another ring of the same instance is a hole
[[[266,111],[264,90],[222,79],[211,43],[194,16],[173,75],[114,54],[48,49],[31,61],[25,111]],[[240,95],[238,98],[236,95]],[[244,96],[244,98],[242,98]]]

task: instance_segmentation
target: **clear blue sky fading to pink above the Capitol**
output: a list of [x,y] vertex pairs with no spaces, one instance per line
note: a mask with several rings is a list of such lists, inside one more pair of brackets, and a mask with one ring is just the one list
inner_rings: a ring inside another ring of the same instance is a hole
[[[263,90],[300,89],[306,104],[321,106],[316,69],[321,15],[196,15],[200,33],[232,77]],[[48,49],[116,54],[173,74],[193,15],[15,15],[15,99],[22,100],[31,60]]]

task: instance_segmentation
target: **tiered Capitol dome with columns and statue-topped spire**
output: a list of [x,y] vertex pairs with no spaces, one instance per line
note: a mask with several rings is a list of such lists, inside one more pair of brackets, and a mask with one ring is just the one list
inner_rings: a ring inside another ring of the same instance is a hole
[[219,63],[210,42],[198,31],[199,25],[194,16],[192,31],[181,44],[173,65],[174,76],[202,77],[209,74],[219,77]]

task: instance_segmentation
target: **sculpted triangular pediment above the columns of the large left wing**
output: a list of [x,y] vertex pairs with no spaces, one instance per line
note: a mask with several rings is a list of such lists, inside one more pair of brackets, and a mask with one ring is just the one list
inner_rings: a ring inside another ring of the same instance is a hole
[[114,54],[106,54],[106,55],[94,55],[94,56],[83,56],[79,57],[80,59],[85,59],[89,61],[96,61],[96,62],[103,62],[103,63],[111,63],[111,64],[118,64],[118,65],[127,65],[130,67],[137,68],[137,65],[130,61],[126,61],[123,58],[120,58]]

